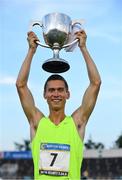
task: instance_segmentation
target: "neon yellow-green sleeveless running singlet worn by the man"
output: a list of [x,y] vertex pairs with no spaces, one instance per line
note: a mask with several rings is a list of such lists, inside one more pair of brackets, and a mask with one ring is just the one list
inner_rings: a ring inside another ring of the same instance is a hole
[[32,141],[34,178],[80,180],[83,142],[71,116],[55,125],[43,117]]

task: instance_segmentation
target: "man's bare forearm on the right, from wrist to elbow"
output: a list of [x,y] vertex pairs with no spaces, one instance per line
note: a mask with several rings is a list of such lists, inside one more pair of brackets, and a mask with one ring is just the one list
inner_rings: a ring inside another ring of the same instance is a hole
[[97,67],[96,67],[94,61],[92,60],[86,46],[84,46],[80,49],[81,49],[81,52],[82,52],[83,57],[86,62],[90,82],[93,84],[100,84],[101,78],[100,78],[99,72],[98,72]]

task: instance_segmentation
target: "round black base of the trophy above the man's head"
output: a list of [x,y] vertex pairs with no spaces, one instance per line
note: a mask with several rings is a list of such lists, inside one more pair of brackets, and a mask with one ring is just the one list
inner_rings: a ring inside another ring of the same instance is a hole
[[63,73],[68,71],[70,66],[64,59],[51,58],[43,63],[42,68],[50,73]]

